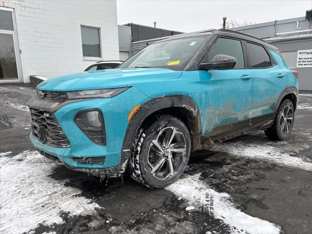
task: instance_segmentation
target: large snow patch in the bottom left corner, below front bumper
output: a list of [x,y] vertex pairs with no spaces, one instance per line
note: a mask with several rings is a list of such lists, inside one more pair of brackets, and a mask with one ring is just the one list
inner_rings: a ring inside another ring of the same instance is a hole
[[49,175],[58,164],[37,151],[17,156],[0,155],[0,233],[21,234],[41,223],[63,222],[60,212],[69,215],[96,215],[98,204],[79,196],[77,188],[66,187],[67,180]]

